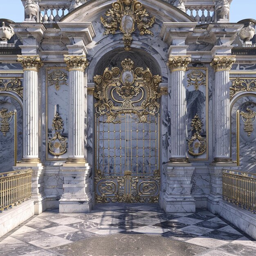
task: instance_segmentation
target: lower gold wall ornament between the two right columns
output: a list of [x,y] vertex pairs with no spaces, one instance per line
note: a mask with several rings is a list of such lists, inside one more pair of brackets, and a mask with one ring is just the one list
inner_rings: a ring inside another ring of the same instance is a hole
[[200,135],[202,131],[202,121],[196,114],[191,122],[191,130],[195,130],[189,141],[189,154],[193,156],[202,155],[206,151],[206,138]]

